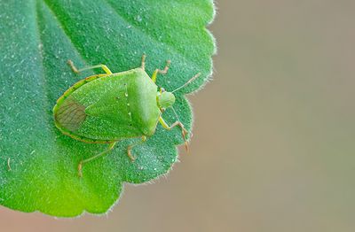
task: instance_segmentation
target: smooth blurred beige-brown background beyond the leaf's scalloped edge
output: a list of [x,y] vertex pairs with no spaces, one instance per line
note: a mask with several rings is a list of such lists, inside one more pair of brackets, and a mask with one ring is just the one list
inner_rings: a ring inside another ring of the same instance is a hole
[[0,208],[1,231],[354,231],[355,2],[219,0],[191,153],[106,216]]

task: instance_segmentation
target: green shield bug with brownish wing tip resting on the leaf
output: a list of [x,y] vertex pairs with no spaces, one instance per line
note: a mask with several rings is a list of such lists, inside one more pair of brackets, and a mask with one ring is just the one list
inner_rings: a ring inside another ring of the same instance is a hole
[[[77,69],[71,60],[68,65],[73,72],[102,68],[105,73],[95,74],[76,82],[59,97],[53,108],[54,122],[64,134],[84,143],[108,143],[108,148],[83,159],[78,164],[79,176],[82,176],[83,164],[105,155],[114,149],[114,145],[127,138],[140,137],[141,141],[127,147],[127,155],[133,161],[131,150],[146,137],[154,135],[159,123],[170,130],[180,127],[187,149],[185,136],[188,131],[178,120],[168,125],[162,119],[162,112],[175,103],[173,92],[184,88],[200,76],[200,73],[171,92],[159,88],[156,84],[157,74],[165,74],[169,70],[170,60],[163,70],[156,69],[152,78],[145,71],[145,59],[142,57],[140,67],[122,73],[112,73],[107,66],[88,66]],[[175,111],[174,111],[175,112]]]

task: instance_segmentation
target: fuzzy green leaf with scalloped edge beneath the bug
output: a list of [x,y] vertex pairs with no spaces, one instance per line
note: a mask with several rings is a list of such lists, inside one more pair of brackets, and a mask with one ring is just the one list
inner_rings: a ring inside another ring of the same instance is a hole
[[[19,7],[20,6],[20,7]],[[76,81],[89,76],[76,66],[105,64],[113,72],[140,65],[146,72],[171,59],[158,85],[176,89],[195,73],[201,78],[177,94],[175,105],[185,127],[192,111],[183,94],[201,88],[212,70],[212,0],[21,0],[0,2],[0,204],[22,212],[71,217],[84,211],[106,213],[123,182],[148,182],[177,161],[181,131],[162,129],[137,146],[131,162],[123,140],[114,151],[83,167],[80,160],[106,149],[62,135],[52,107]],[[164,112],[169,123],[173,112]]]

